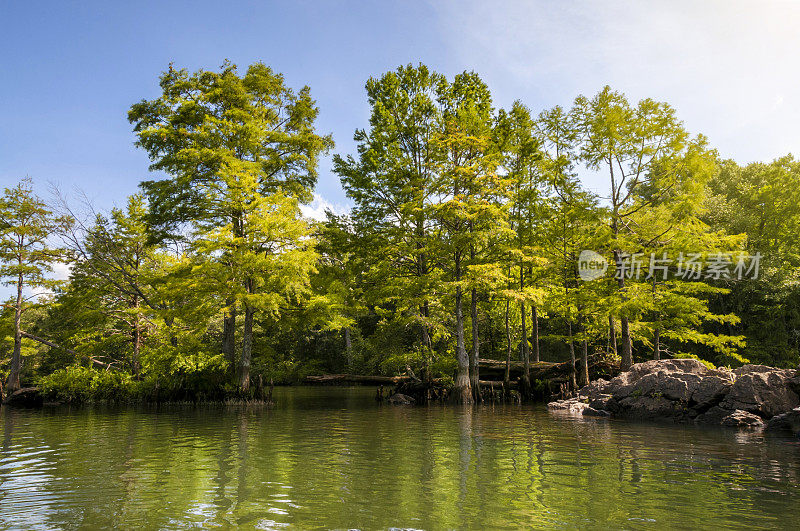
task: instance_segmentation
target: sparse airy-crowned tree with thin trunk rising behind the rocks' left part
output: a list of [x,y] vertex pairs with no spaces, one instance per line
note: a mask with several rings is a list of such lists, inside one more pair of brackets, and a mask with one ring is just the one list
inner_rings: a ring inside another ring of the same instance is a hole
[[[605,87],[591,99],[576,98],[571,115],[582,162],[609,179],[608,223],[613,260],[619,266],[625,249],[635,247],[632,216],[655,203],[676,213],[696,205],[702,200],[697,191],[708,177],[698,179],[691,168],[697,158],[711,155],[705,138],[691,138],[666,103],[644,99],[631,105],[624,94]],[[639,200],[644,189],[653,193]],[[625,282],[625,277],[618,278],[623,300]],[[620,317],[622,368],[628,369],[633,363],[631,315]]]

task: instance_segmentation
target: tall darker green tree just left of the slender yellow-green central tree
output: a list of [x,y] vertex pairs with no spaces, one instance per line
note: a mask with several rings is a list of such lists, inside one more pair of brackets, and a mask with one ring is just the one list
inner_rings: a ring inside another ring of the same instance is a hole
[[398,318],[417,329],[417,349],[425,365],[433,335],[442,332],[432,317],[438,301],[432,288],[431,209],[441,161],[434,137],[441,123],[437,91],[443,83],[442,75],[424,65],[402,66],[369,79],[370,126],[354,135],[358,158],[334,158],[334,169],[354,202],[353,221],[363,229],[369,283]]

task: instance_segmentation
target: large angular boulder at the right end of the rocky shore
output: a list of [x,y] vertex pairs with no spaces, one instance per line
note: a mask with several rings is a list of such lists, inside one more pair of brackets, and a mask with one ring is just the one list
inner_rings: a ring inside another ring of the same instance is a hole
[[800,397],[790,387],[793,371],[761,365],[745,365],[737,371],[738,378],[720,402],[721,407],[770,419],[800,406]]

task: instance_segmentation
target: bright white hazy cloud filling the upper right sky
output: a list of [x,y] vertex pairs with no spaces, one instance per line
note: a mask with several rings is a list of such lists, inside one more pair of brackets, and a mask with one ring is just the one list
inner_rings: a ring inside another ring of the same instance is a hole
[[460,68],[498,105],[569,106],[604,85],[672,104],[739,162],[800,155],[800,2],[443,2]]

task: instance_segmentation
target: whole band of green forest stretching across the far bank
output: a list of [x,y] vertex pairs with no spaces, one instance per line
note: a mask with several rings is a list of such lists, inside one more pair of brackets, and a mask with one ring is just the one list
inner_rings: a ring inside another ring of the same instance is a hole
[[333,155],[352,210],[316,221],[300,206],[334,143],[308,87],[227,63],[160,87],[128,113],[154,178],[124,208],[24,179],[0,198],[4,393],[246,398],[347,372],[469,402],[479,359],[522,362],[523,394],[533,364],[572,360],[575,388],[595,354],[800,361],[791,155],[724,160],[667,103],[609,87],[502,109],[473,72],[408,65],[367,81],[357,153]]

